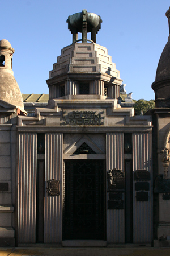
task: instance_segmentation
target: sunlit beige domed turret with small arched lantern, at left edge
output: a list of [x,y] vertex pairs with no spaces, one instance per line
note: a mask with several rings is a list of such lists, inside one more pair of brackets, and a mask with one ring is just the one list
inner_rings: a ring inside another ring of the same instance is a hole
[[8,40],[0,40],[0,99],[24,110],[23,98],[12,71],[14,49]]

